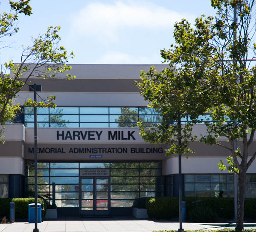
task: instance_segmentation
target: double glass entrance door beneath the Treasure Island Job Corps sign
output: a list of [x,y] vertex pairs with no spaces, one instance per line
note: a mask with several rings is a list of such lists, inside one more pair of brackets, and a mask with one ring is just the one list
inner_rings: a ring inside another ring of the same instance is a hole
[[79,189],[79,211],[81,215],[110,214],[109,177],[81,177]]

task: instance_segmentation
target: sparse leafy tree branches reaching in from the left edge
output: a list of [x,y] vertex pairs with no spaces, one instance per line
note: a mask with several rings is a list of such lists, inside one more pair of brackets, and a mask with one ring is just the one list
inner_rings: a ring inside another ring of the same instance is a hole
[[[10,13],[0,14],[0,38],[18,32],[19,28],[16,27],[18,16],[22,13],[27,16],[32,14],[29,1],[9,1]],[[59,30],[59,26],[49,26],[46,33],[37,38],[32,37],[32,45],[23,49],[19,64],[14,64],[12,61],[4,64],[6,70],[11,70],[12,76],[6,74],[6,71],[0,73],[0,125],[2,126],[0,137],[3,137],[3,126],[7,121],[14,120],[20,110],[19,104],[14,104],[13,100],[30,77],[54,78],[58,77],[59,72],[71,69],[65,63],[70,57],[73,58],[73,52],[67,54],[65,48],[60,46]],[[67,74],[67,79],[73,78],[74,76]],[[42,100],[39,103],[29,99],[26,106],[55,107],[55,104],[52,103],[54,99],[54,96],[49,96],[47,100]]]

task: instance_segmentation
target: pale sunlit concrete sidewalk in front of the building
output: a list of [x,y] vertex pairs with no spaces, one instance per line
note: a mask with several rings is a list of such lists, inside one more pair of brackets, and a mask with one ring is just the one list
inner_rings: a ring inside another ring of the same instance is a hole
[[[184,230],[210,230],[234,228],[235,223],[183,223]],[[34,223],[15,222],[0,224],[0,232],[33,232]],[[177,230],[178,222],[137,219],[134,217],[78,218],[64,217],[38,223],[40,232],[151,232],[153,230]],[[256,229],[256,223],[245,223],[244,229]]]

